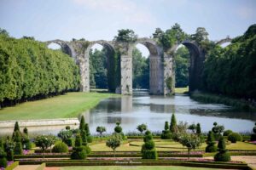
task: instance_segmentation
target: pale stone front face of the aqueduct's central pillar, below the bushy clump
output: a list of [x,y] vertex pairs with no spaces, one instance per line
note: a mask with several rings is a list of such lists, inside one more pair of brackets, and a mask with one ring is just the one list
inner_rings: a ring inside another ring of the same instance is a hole
[[121,54],[121,94],[132,94],[132,57]]

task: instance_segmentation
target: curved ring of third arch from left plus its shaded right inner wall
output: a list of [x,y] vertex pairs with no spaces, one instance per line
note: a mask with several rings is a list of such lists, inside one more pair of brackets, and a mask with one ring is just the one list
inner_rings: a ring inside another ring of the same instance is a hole
[[132,57],[132,50],[136,48],[138,43],[143,44],[149,51],[149,94],[164,94],[164,74],[161,62],[161,54],[163,54],[162,48],[150,38],[138,38],[137,41],[131,45],[131,48],[129,48],[129,56]]

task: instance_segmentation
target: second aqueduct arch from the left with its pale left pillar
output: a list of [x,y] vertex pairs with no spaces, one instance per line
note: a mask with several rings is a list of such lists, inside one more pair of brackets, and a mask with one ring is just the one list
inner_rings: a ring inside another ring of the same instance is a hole
[[[89,46],[84,50],[84,58],[80,60],[80,74],[81,74],[81,91],[90,92],[90,48],[95,44],[100,44],[107,49],[108,69],[111,68],[109,62],[110,56],[114,55],[114,47],[112,42],[99,40],[90,42]],[[113,68],[113,67],[112,67]]]

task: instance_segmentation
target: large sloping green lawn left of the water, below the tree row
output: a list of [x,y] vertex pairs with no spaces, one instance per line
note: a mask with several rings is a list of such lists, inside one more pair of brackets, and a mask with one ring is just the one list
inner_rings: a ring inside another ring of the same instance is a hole
[[118,94],[67,93],[49,99],[26,102],[0,110],[0,121],[26,119],[71,118],[95,107],[101,99]]

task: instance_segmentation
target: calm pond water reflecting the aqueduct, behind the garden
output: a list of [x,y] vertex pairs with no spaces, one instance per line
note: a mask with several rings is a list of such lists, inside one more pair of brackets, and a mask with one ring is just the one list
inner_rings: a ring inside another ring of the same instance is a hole
[[84,116],[91,133],[96,133],[97,126],[107,127],[107,133],[112,133],[117,121],[126,133],[137,131],[141,123],[146,123],[151,131],[161,131],[165,122],[170,122],[172,113],[176,114],[177,122],[201,123],[203,132],[212,129],[213,122],[236,132],[251,132],[256,122],[256,113],[232,111],[226,105],[201,104],[186,95],[104,99]]

